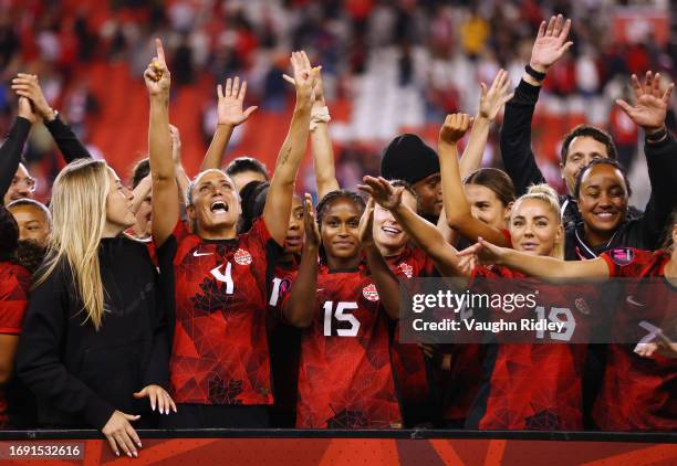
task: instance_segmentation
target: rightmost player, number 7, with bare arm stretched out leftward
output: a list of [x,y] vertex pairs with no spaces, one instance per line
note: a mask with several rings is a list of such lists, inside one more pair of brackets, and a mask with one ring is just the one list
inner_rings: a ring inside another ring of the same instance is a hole
[[[605,431],[675,431],[677,404],[674,384],[677,360],[673,351],[656,351],[643,358],[640,346],[624,343],[624,337],[643,337],[640,324],[664,327],[674,339],[675,279],[677,278],[677,213],[668,224],[665,247],[656,252],[631,247],[605,252],[591,261],[562,262],[535,257],[480,241],[473,252],[485,260],[512,267],[532,276],[559,280],[566,278],[638,278],[625,280],[622,300],[615,307],[607,363],[602,390],[593,410],[597,426]],[[665,327],[667,322],[668,327]],[[635,341],[636,342],[636,341]]]

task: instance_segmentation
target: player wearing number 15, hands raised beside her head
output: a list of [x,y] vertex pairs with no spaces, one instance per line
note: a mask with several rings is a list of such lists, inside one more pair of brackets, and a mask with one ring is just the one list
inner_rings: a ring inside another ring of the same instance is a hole
[[306,194],[304,222],[299,276],[282,304],[284,318],[304,328],[296,427],[400,427],[387,329],[399,290],[373,242],[373,203],[365,211],[356,193],[332,191],[315,223]]

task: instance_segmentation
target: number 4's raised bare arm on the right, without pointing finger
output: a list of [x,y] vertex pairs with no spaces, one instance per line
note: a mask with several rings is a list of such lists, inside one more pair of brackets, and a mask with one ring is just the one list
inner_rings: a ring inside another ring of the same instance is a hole
[[284,237],[287,236],[296,171],[308,144],[308,128],[316,74],[316,71],[311,68],[305,52],[293,52],[291,62],[294,68],[296,104],[289,133],[278,156],[275,171],[270,181],[270,189],[265,195],[265,206],[263,208],[265,226],[272,239],[280,245],[284,244]]

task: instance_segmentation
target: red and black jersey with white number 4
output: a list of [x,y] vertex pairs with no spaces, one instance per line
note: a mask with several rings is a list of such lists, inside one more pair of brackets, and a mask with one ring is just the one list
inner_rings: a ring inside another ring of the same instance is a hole
[[279,246],[263,220],[235,240],[202,240],[178,222],[157,247],[176,325],[169,360],[178,403],[270,404],[268,285]]

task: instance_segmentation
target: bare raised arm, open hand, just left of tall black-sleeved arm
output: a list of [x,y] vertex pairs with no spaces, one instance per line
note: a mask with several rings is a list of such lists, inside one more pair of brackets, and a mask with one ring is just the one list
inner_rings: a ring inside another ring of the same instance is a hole
[[475,117],[468,145],[459,162],[461,179],[465,179],[481,167],[491,124],[506,105],[506,102],[510,100],[513,96],[513,94],[508,93],[509,88],[510,78],[504,70],[498,72],[489,89],[487,89],[485,83],[480,84],[479,112],[477,117]]

